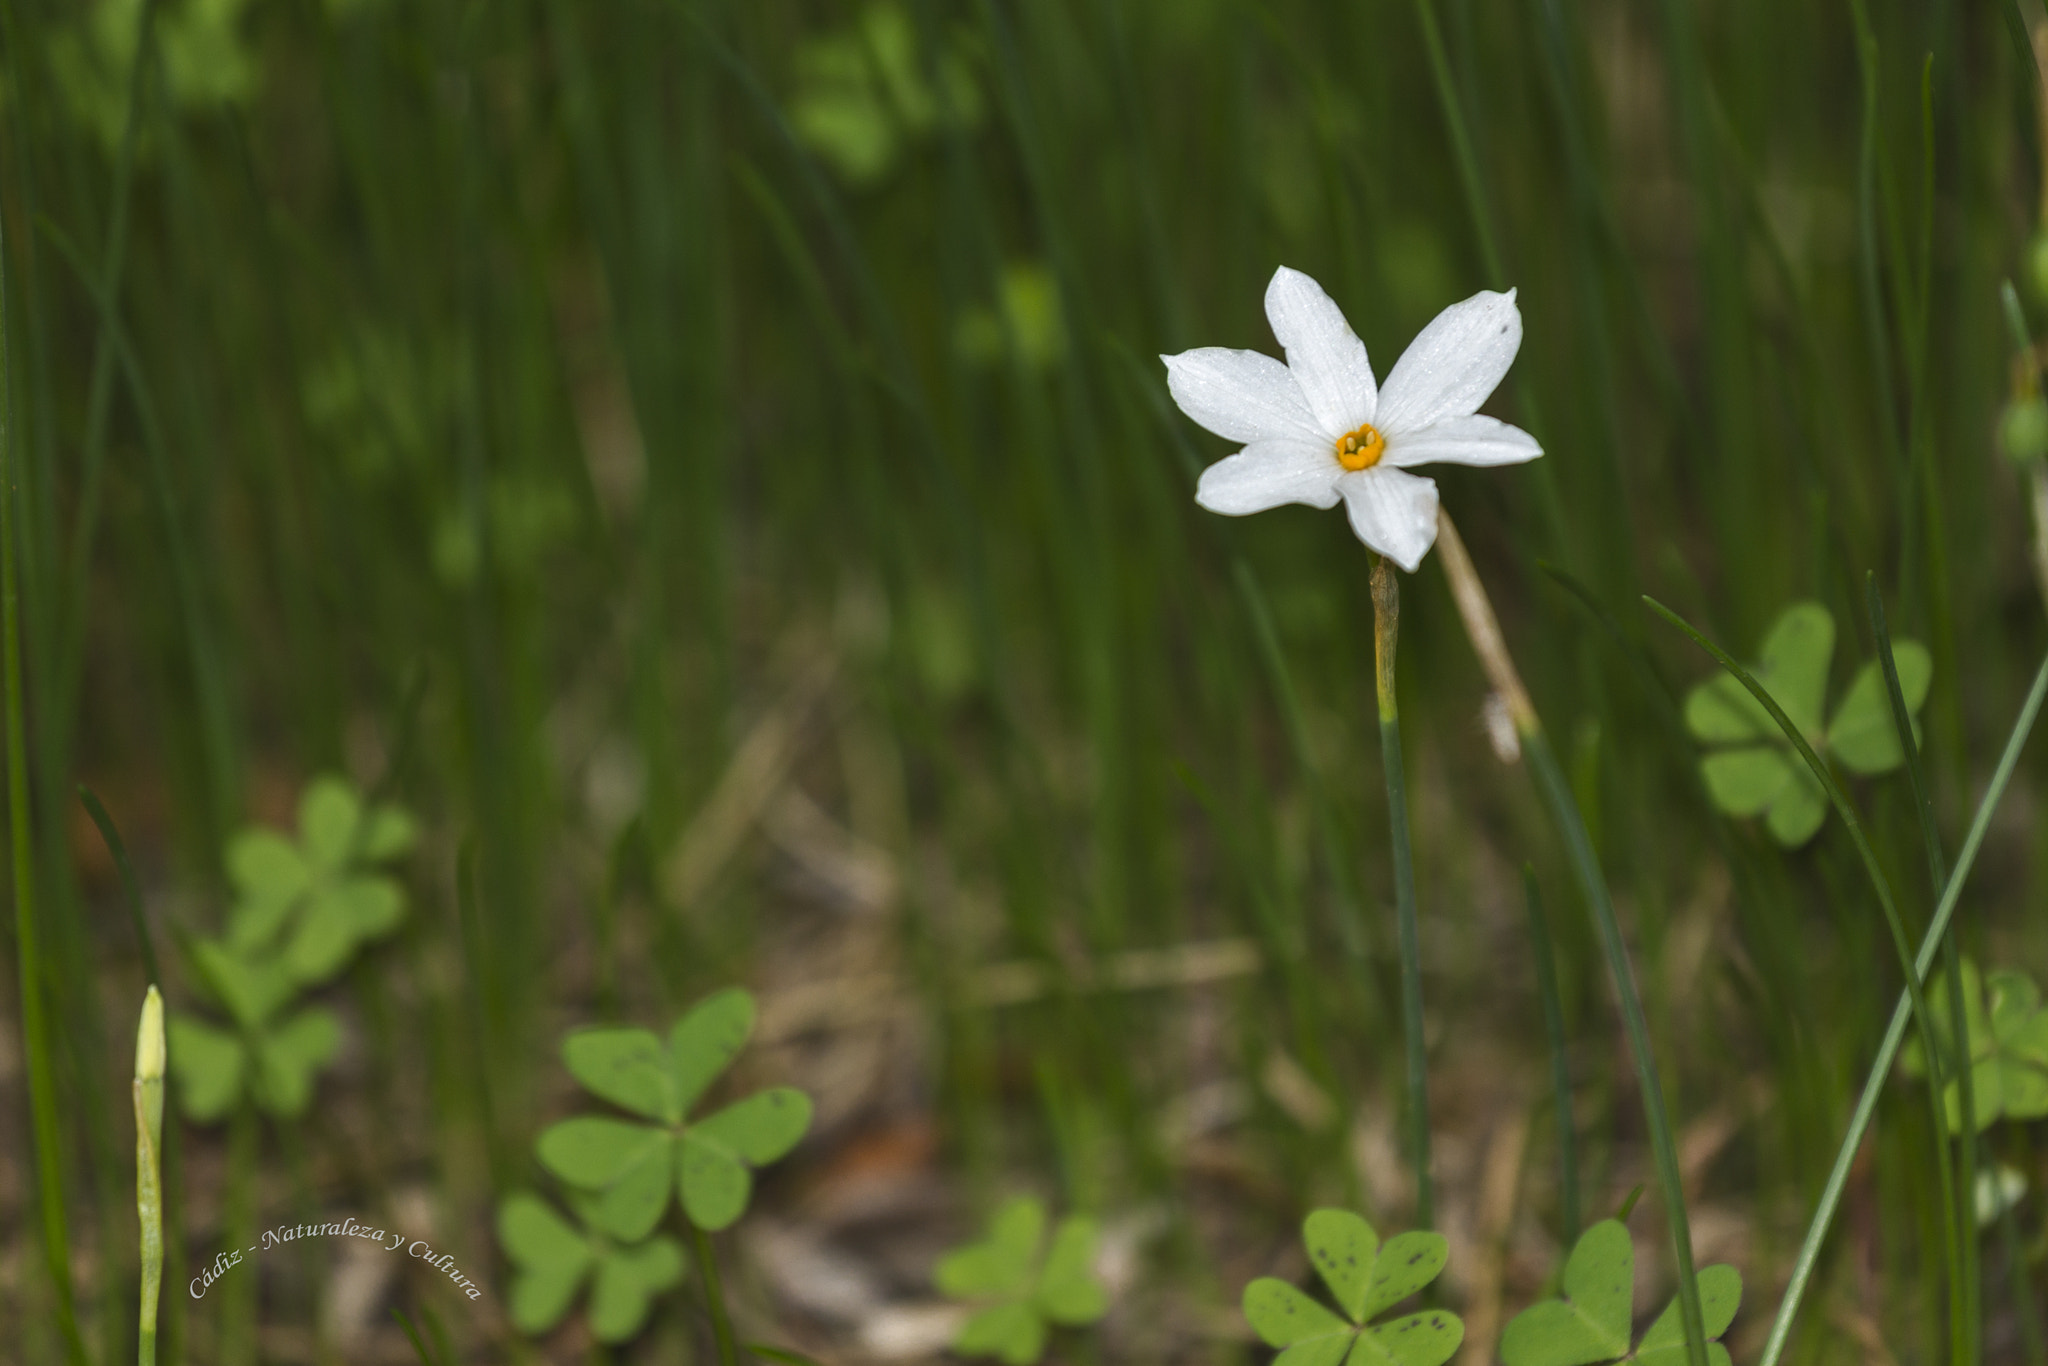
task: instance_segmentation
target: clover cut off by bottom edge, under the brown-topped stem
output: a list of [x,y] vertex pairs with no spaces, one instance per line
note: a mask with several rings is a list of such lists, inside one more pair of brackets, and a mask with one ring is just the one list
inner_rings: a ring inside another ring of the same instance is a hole
[[[1683,1366],[1686,1327],[1677,1296],[1651,1323],[1636,1350],[1628,1350],[1634,1323],[1636,1249],[1628,1241],[1628,1225],[1604,1219],[1579,1237],[1565,1264],[1565,1294],[1530,1305],[1501,1333],[1501,1360],[1507,1366],[1593,1366],[1595,1362],[1640,1362],[1642,1366]],[[1700,1272],[1700,1313],[1706,1335],[1720,1337],[1735,1323],[1743,1303],[1743,1276],[1733,1266],[1708,1266]],[[1714,1366],[1731,1366],[1729,1350],[1706,1343]]]

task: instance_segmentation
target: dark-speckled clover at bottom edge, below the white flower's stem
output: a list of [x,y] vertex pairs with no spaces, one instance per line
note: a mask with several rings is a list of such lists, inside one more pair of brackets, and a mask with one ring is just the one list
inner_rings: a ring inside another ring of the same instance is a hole
[[1268,1346],[1282,1348],[1274,1366],[1442,1366],[1464,1341],[1464,1321],[1444,1309],[1372,1323],[1444,1270],[1450,1243],[1442,1233],[1397,1233],[1380,1243],[1358,1214],[1315,1210],[1300,1235],[1343,1315],[1274,1276],[1253,1280],[1245,1319]]

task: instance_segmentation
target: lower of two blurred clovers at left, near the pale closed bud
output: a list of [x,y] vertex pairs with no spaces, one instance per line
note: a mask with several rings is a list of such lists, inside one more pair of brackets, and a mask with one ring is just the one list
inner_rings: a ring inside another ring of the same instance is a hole
[[244,1092],[279,1118],[305,1114],[313,1075],[342,1047],[342,1022],[322,1006],[281,1018],[297,987],[274,961],[250,961],[217,940],[199,940],[193,965],[236,1030],[186,1014],[170,1018],[170,1071],[186,1118],[211,1124]]

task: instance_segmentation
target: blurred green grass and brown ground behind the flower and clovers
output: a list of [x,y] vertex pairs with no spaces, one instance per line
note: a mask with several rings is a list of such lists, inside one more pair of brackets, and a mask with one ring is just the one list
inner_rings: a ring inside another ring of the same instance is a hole
[[[770,1014],[782,993],[782,1071],[829,1081],[877,1014],[856,985],[885,981],[913,1044],[821,1106],[770,1186],[788,1221],[915,1130],[946,1231],[1020,1182],[1157,1212],[1137,1307],[1090,1352],[1219,1362],[1251,1350],[1227,1307],[1300,1210],[1399,1227],[1368,559],[1331,514],[1202,514],[1227,446],[1157,360],[1276,350],[1278,264],[1382,373],[1440,307],[1520,289],[1489,412],[1548,455],[1434,473],[1608,862],[1753,1354],[1896,973],[1839,821],[1786,854],[1704,801],[1673,694],[1708,661],[1638,594],[1743,657],[1823,600],[1839,690],[1876,571],[1933,651],[1960,838],[2048,643],[1997,449],[1999,283],[2048,315],[2025,8],[4,0],[29,971],[92,1360],[123,1360],[133,1315],[143,973],[78,782],[166,946],[221,922],[227,838],[287,823],[313,774],[422,817],[403,936],[334,991],[344,1065],[315,1122],[264,1137],[266,1219],[416,1192],[496,1272],[494,1196],[567,1104],[563,1028],[666,1026],[745,981]],[[1434,563],[1401,686],[1470,1321],[1528,1303],[1559,1237],[1522,862],[1589,1210],[1647,1157],[1591,932]],[[2030,760],[1964,901],[1987,963],[2048,969],[2040,780]],[[1903,780],[1858,795],[1923,924]],[[0,1317],[18,1360],[61,1362],[4,1040]],[[1225,1120],[1186,1120],[1210,1102]],[[1909,1092],[1880,1110],[1802,1360],[1946,1339],[1935,1141]],[[1987,1243],[1987,1360],[2042,1360],[2042,1171],[2025,1126],[1987,1143],[2036,1182]],[[223,1139],[182,1153],[199,1264]],[[340,1360],[311,1331],[326,1272],[264,1276],[264,1360]],[[858,1358],[745,1284],[760,1321]],[[524,1350],[434,1303],[465,1360]],[[168,1307],[170,1346],[219,1360],[211,1311]],[[692,1323],[672,1305],[623,1360],[680,1360]],[[582,1360],[573,1331],[547,1352]]]

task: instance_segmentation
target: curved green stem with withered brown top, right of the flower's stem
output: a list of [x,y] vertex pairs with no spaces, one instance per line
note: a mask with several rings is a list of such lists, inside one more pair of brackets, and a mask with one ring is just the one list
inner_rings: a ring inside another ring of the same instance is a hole
[[1671,1141],[1671,1116],[1665,1114],[1663,1081],[1657,1077],[1657,1055],[1651,1051],[1649,1022],[1642,1018],[1642,995],[1636,991],[1636,975],[1628,965],[1628,944],[1622,940],[1622,926],[1614,915],[1614,899],[1608,895],[1608,879],[1599,870],[1599,854],[1585,834],[1585,817],[1571,795],[1571,784],[1556,766],[1550,739],[1544,735],[1542,719],[1530,702],[1528,688],[1516,672],[1507,643],[1501,639],[1501,625],[1493,616],[1493,602],[1485,584],[1473,567],[1473,557],[1464,553],[1464,541],[1450,516],[1438,512],[1436,530],[1438,555],[1444,573],[1450,578],[1450,592],[1458,602],[1458,616],[1464,618],[1464,633],[1473,639],[1479,664],[1493,684],[1493,692],[1507,707],[1522,737],[1522,754],[1528,756],[1530,774],[1536,778],[1536,793],[1550,807],[1550,819],[1565,840],[1565,852],[1579,879],[1579,891],[1599,934],[1599,946],[1608,958],[1608,975],[1614,979],[1614,995],[1622,1006],[1622,1028],[1628,1034],[1628,1051],[1634,1057],[1636,1090],[1642,1094],[1642,1114],[1651,1130],[1651,1155],[1657,1163],[1657,1186],[1663,1190],[1665,1223],[1671,1227],[1671,1255],[1677,1262],[1677,1309],[1686,1329],[1688,1366],[1708,1366],[1706,1317],[1700,1313],[1700,1284],[1692,1268],[1692,1225],[1686,1219],[1686,1188],[1679,1182],[1677,1145]]

